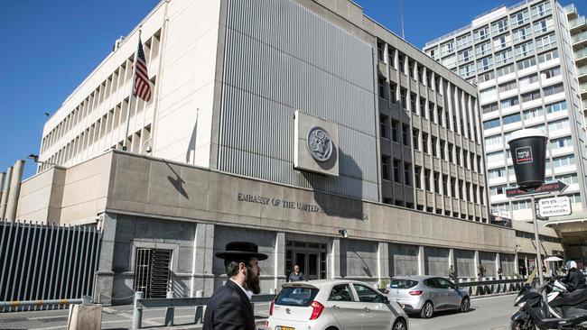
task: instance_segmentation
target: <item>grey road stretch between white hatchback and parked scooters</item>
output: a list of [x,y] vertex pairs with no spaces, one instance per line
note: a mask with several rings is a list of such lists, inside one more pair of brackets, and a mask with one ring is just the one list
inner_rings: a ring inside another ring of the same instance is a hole
[[410,317],[410,330],[506,330],[509,317],[516,311],[515,295],[473,298],[471,311],[465,314],[442,312],[429,319]]

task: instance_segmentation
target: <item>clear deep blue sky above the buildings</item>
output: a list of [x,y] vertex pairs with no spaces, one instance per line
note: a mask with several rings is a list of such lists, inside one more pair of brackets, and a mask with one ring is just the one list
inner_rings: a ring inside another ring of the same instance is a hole
[[[0,0],[0,172],[38,154],[42,127],[70,93],[159,0]],[[400,0],[355,0],[401,36]],[[405,40],[422,49],[511,0],[401,0]],[[572,1],[561,0],[562,5]],[[587,14],[587,0],[574,1]],[[23,179],[35,173],[27,160]]]

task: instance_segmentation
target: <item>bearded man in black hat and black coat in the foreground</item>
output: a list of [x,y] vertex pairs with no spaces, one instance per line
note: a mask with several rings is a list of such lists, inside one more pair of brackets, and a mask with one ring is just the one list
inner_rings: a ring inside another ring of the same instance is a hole
[[261,292],[258,261],[267,255],[258,252],[256,243],[231,242],[216,256],[224,259],[228,280],[212,294],[202,330],[255,330],[250,298]]

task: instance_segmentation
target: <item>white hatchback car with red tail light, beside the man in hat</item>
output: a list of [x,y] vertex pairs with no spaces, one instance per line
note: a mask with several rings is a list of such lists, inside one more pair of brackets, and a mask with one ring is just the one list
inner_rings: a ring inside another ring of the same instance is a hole
[[290,282],[271,303],[270,330],[405,330],[402,307],[355,280]]

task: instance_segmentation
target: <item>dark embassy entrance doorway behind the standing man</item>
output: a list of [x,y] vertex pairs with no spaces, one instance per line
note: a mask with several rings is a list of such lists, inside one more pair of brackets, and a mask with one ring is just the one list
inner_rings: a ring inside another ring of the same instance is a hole
[[285,276],[299,265],[304,280],[326,279],[326,244],[287,241],[285,243]]

